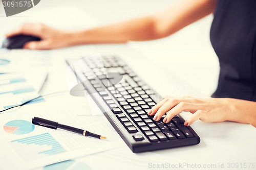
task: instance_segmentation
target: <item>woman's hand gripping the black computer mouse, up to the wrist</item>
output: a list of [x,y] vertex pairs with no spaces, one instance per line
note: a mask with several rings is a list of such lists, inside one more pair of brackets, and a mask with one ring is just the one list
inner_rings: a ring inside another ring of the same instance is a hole
[[6,34],[7,37],[25,34],[41,38],[41,41],[31,41],[24,45],[24,48],[31,50],[49,50],[70,46],[70,33],[48,27],[41,23],[24,23]]

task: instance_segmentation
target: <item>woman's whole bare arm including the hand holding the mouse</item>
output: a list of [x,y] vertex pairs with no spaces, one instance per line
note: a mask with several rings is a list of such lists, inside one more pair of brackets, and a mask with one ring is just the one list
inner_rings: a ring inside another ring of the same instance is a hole
[[63,32],[45,25],[27,23],[7,34],[28,34],[42,41],[25,48],[51,49],[79,44],[125,43],[153,40],[171,35],[215,10],[217,0],[183,0],[152,16],[141,17],[83,31]]

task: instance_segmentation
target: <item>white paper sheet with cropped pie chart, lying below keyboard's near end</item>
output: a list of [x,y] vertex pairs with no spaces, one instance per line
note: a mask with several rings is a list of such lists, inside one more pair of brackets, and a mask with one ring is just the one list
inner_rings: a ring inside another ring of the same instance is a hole
[[163,158],[159,154],[152,152],[135,154],[125,146],[78,159],[58,162],[36,170],[152,169],[153,163],[161,162],[163,162]]

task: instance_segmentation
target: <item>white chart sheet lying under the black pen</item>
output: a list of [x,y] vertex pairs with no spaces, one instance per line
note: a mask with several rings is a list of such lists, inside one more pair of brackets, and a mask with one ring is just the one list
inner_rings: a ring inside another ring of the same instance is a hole
[[[86,129],[106,136],[107,139],[84,137],[61,129],[35,126],[31,123],[33,116]],[[0,136],[0,164],[4,169],[42,167],[125,145],[104,115],[93,116],[90,109],[80,103],[52,112],[1,115]],[[10,163],[11,160],[15,160],[15,163]]]

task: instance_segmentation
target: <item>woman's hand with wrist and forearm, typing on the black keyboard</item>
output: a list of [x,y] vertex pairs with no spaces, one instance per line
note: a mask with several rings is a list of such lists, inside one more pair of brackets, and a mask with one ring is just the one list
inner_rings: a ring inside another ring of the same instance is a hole
[[251,124],[255,127],[255,109],[256,102],[239,99],[167,97],[148,111],[148,115],[155,115],[154,120],[158,121],[165,113],[167,113],[163,119],[163,122],[167,123],[175,115],[185,111],[192,113],[192,115],[185,121],[185,126],[189,126],[200,119],[203,122],[224,122],[229,120],[232,122]]

